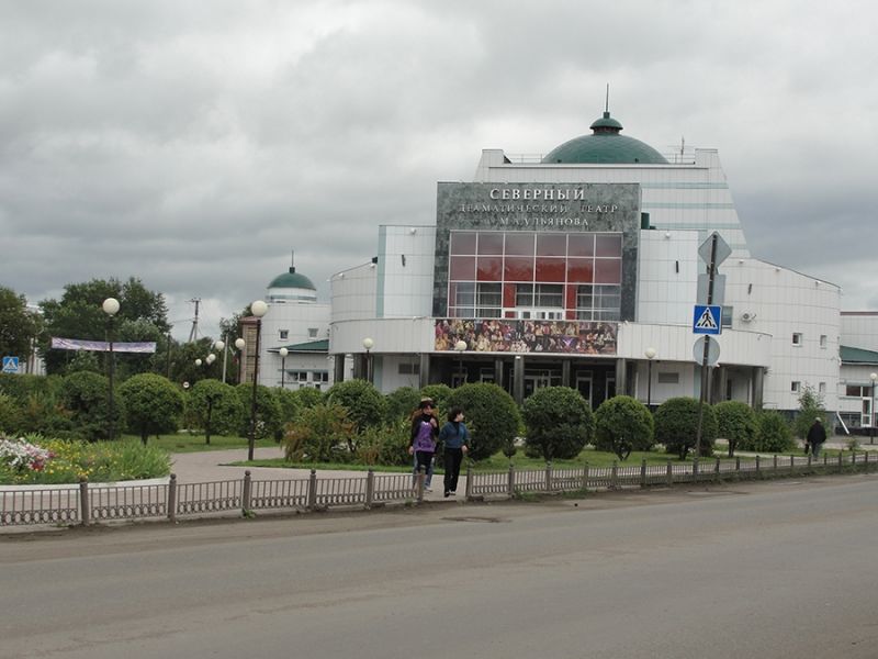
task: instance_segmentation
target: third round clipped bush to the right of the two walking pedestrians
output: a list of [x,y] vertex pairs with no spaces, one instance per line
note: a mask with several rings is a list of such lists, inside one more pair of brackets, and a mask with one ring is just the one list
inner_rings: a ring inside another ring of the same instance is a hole
[[654,422],[646,405],[628,396],[607,399],[595,411],[595,447],[627,460],[632,450],[650,450]]

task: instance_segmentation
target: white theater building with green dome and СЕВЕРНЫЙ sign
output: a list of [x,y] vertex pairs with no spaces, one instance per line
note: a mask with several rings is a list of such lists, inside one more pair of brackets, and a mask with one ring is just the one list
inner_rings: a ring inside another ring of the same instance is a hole
[[[328,338],[322,383],[491,381],[519,401],[563,384],[593,406],[698,396],[699,248],[716,232],[729,256],[711,402],[791,412],[811,387],[836,423],[869,426],[878,317],[843,315],[837,286],[751,256],[716,149],[669,161],[608,112],[590,127],[534,161],[485,149],[472,182],[438,185],[435,225],[380,226],[378,256],[331,278],[328,336],[307,337]],[[263,383],[280,347],[307,343],[280,330],[263,330]]]

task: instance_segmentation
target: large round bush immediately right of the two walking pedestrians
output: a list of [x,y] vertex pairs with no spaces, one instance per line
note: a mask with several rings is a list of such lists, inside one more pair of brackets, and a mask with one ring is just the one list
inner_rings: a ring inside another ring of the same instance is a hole
[[[426,390],[426,388],[425,388]],[[518,405],[503,388],[489,382],[473,382],[453,389],[447,410],[461,407],[470,429],[469,457],[484,460],[515,438],[521,425]]]

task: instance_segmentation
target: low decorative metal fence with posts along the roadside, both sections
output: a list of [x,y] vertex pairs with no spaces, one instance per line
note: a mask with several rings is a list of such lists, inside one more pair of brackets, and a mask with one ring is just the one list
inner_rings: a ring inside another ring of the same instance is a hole
[[[878,470],[878,457],[868,453],[837,454],[822,460],[808,457],[732,460],[693,460],[666,465],[614,463],[611,467],[583,467],[482,472],[468,469],[466,499],[513,498],[524,493],[544,494],[649,488],[691,482],[720,482],[769,479],[785,476],[838,473]],[[312,511],[331,506],[370,509],[393,502],[424,500],[424,477],[413,487],[410,473],[376,474],[373,471],[350,477],[285,480],[244,479],[204,483],[178,483],[171,474],[167,483],[46,485],[45,488],[0,489],[0,526],[55,524],[88,525],[106,520],[144,520],[203,515],[225,511],[294,510]]]

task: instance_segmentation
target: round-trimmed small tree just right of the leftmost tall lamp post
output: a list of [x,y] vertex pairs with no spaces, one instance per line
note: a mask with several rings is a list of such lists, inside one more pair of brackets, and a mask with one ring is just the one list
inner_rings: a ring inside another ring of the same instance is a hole
[[146,446],[149,435],[172,433],[183,414],[183,394],[162,376],[139,373],[119,388],[127,427]]

